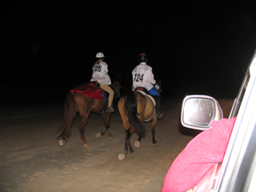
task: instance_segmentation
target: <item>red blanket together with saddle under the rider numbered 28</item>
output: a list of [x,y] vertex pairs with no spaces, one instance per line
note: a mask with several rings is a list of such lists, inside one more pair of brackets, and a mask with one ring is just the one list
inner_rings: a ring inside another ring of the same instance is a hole
[[93,100],[107,100],[108,101],[108,92],[100,89],[100,84],[98,82],[90,82],[89,84],[80,84],[74,87],[71,91],[79,92],[80,94],[85,95],[86,97],[92,98]]

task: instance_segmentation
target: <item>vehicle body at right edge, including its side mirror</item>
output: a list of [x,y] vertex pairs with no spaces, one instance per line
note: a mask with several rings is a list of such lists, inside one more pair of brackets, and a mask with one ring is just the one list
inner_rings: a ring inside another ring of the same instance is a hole
[[[201,111],[203,114],[194,113],[198,108],[198,105],[195,107],[196,104],[202,101],[208,103],[209,110]],[[196,188],[190,191],[256,191],[256,51],[228,118],[235,116],[236,124],[228,141],[223,162],[212,167]],[[190,95],[183,100],[180,121],[185,127],[205,130],[211,127],[213,120],[221,118],[220,105],[212,97]]]

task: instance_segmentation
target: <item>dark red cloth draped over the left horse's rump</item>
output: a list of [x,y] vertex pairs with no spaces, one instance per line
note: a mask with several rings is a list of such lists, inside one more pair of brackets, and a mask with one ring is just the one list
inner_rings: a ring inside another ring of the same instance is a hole
[[98,88],[95,84],[80,84],[76,86],[70,92],[79,92],[80,94],[85,95],[86,97],[90,97],[94,100],[103,100],[101,89]]

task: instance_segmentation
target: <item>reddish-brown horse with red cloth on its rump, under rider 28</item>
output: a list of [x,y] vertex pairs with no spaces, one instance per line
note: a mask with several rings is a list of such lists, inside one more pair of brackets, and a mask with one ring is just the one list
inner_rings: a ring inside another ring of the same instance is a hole
[[[82,84],[83,85],[83,84]],[[115,99],[120,98],[120,82],[114,81],[110,87],[115,92]],[[75,121],[76,113],[78,112],[81,116],[81,123],[79,125],[80,138],[84,147],[88,147],[88,143],[84,137],[84,129],[87,124],[88,116],[91,111],[97,114],[101,114],[103,122],[105,124],[105,130],[96,134],[97,138],[104,135],[108,132],[109,122],[110,122],[110,112],[107,110],[108,102],[107,100],[96,100],[90,97],[86,97],[85,95],[79,92],[68,92],[66,100],[65,100],[65,111],[64,118],[62,123],[60,124],[60,136],[61,140],[59,141],[59,145],[63,146],[68,142],[68,139],[71,136],[71,127]],[[108,136],[111,137],[111,133],[108,132]]]

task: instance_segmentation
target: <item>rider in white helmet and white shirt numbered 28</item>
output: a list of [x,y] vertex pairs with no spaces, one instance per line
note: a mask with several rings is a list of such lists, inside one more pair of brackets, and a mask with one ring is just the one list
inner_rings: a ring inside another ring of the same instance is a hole
[[114,108],[112,102],[114,99],[114,91],[109,87],[111,80],[108,76],[108,65],[104,62],[105,56],[102,52],[96,54],[96,63],[92,67],[92,79],[93,82],[98,82],[100,88],[109,93],[108,96],[108,110],[113,113]]

